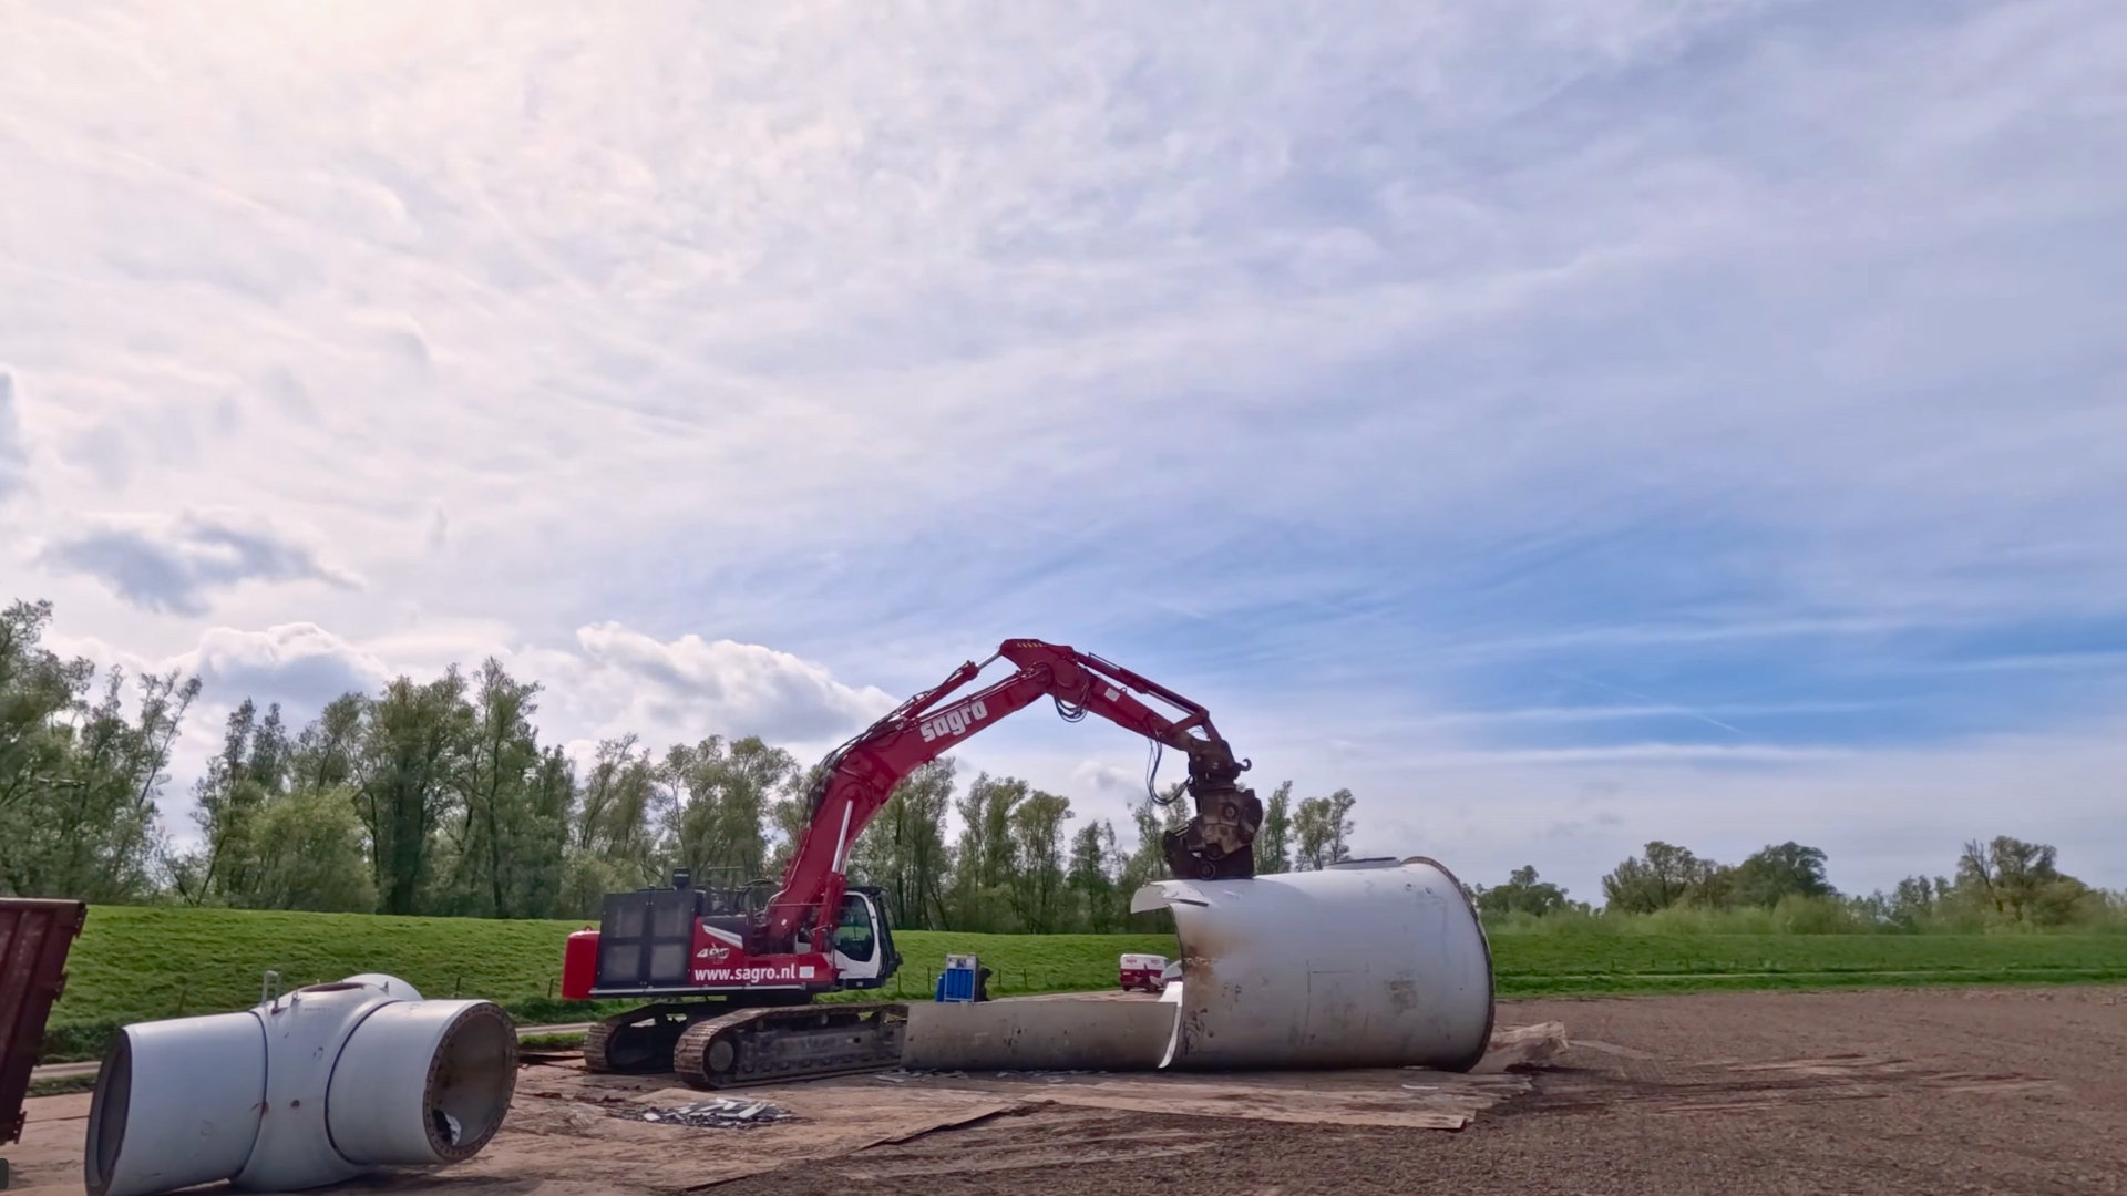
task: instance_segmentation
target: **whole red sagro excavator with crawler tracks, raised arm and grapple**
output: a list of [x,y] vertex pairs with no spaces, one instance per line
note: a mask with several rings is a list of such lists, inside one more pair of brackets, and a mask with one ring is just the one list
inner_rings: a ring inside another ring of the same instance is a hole
[[[1017,670],[955,698],[998,658]],[[849,883],[849,851],[908,773],[1042,696],[1068,721],[1095,713],[1189,755],[1195,815],[1161,838],[1176,879],[1255,875],[1263,804],[1238,785],[1249,762],[1234,760],[1204,707],[1085,651],[1004,641],[998,655],[961,664],[827,753],[781,885],[700,887],[674,873],[670,890],[606,896],[600,928],[568,936],[562,996],[657,1004],[593,1026],[589,1068],[676,1070],[696,1087],[727,1087],[893,1066],[904,1004],[810,1004],[823,992],[878,987],[900,966],[878,890]]]

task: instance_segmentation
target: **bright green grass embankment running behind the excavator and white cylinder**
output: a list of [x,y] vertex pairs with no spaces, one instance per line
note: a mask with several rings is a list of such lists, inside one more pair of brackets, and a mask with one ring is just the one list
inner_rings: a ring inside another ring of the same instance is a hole
[[[47,1060],[96,1058],[117,1026],[247,1009],[262,973],[298,987],[391,973],[428,996],[485,996],[523,1024],[621,1009],[555,998],[562,941],[581,921],[481,921],[225,909],[96,907],[53,1009]],[[993,968],[991,992],[1115,983],[1123,951],[1172,953],[1166,934],[895,934],[902,973],[881,994],[923,998],[949,951]],[[1495,934],[1502,996],[2127,981],[2127,936],[2080,934]]]

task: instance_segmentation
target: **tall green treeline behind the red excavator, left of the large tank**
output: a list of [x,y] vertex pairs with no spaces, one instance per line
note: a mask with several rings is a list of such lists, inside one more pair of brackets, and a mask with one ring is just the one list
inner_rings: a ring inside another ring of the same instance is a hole
[[[489,660],[379,694],[345,694],[291,728],[245,700],[194,787],[198,838],[157,826],[196,679],[140,677],[40,645],[51,607],[0,615],[0,894],[96,902],[593,917],[606,892],[778,877],[804,830],[813,773],[761,738],[653,753],[634,736],[579,768],[540,741],[540,687]],[[1129,894],[1166,875],[1159,834],[1187,819],[1174,785],[1132,809],[1129,838],[1015,777],[959,785],[951,760],[910,775],[857,841],[904,928],[1119,930]],[[1257,870],[1351,856],[1349,790],[1266,802]],[[953,826],[957,824],[957,834]]]

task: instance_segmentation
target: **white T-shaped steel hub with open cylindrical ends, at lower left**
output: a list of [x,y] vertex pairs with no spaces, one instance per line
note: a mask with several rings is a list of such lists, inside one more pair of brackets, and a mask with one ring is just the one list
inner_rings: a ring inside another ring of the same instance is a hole
[[517,1030],[485,1000],[362,975],[119,1032],[89,1102],[89,1196],[289,1190],[459,1162],[502,1126]]

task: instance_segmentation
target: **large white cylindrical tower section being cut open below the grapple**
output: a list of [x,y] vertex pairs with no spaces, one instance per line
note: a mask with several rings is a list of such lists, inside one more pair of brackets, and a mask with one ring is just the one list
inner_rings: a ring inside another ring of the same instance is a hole
[[1491,947],[1423,856],[1249,881],[1157,881],[1180,938],[1170,1066],[1468,1070],[1491,1041]]

